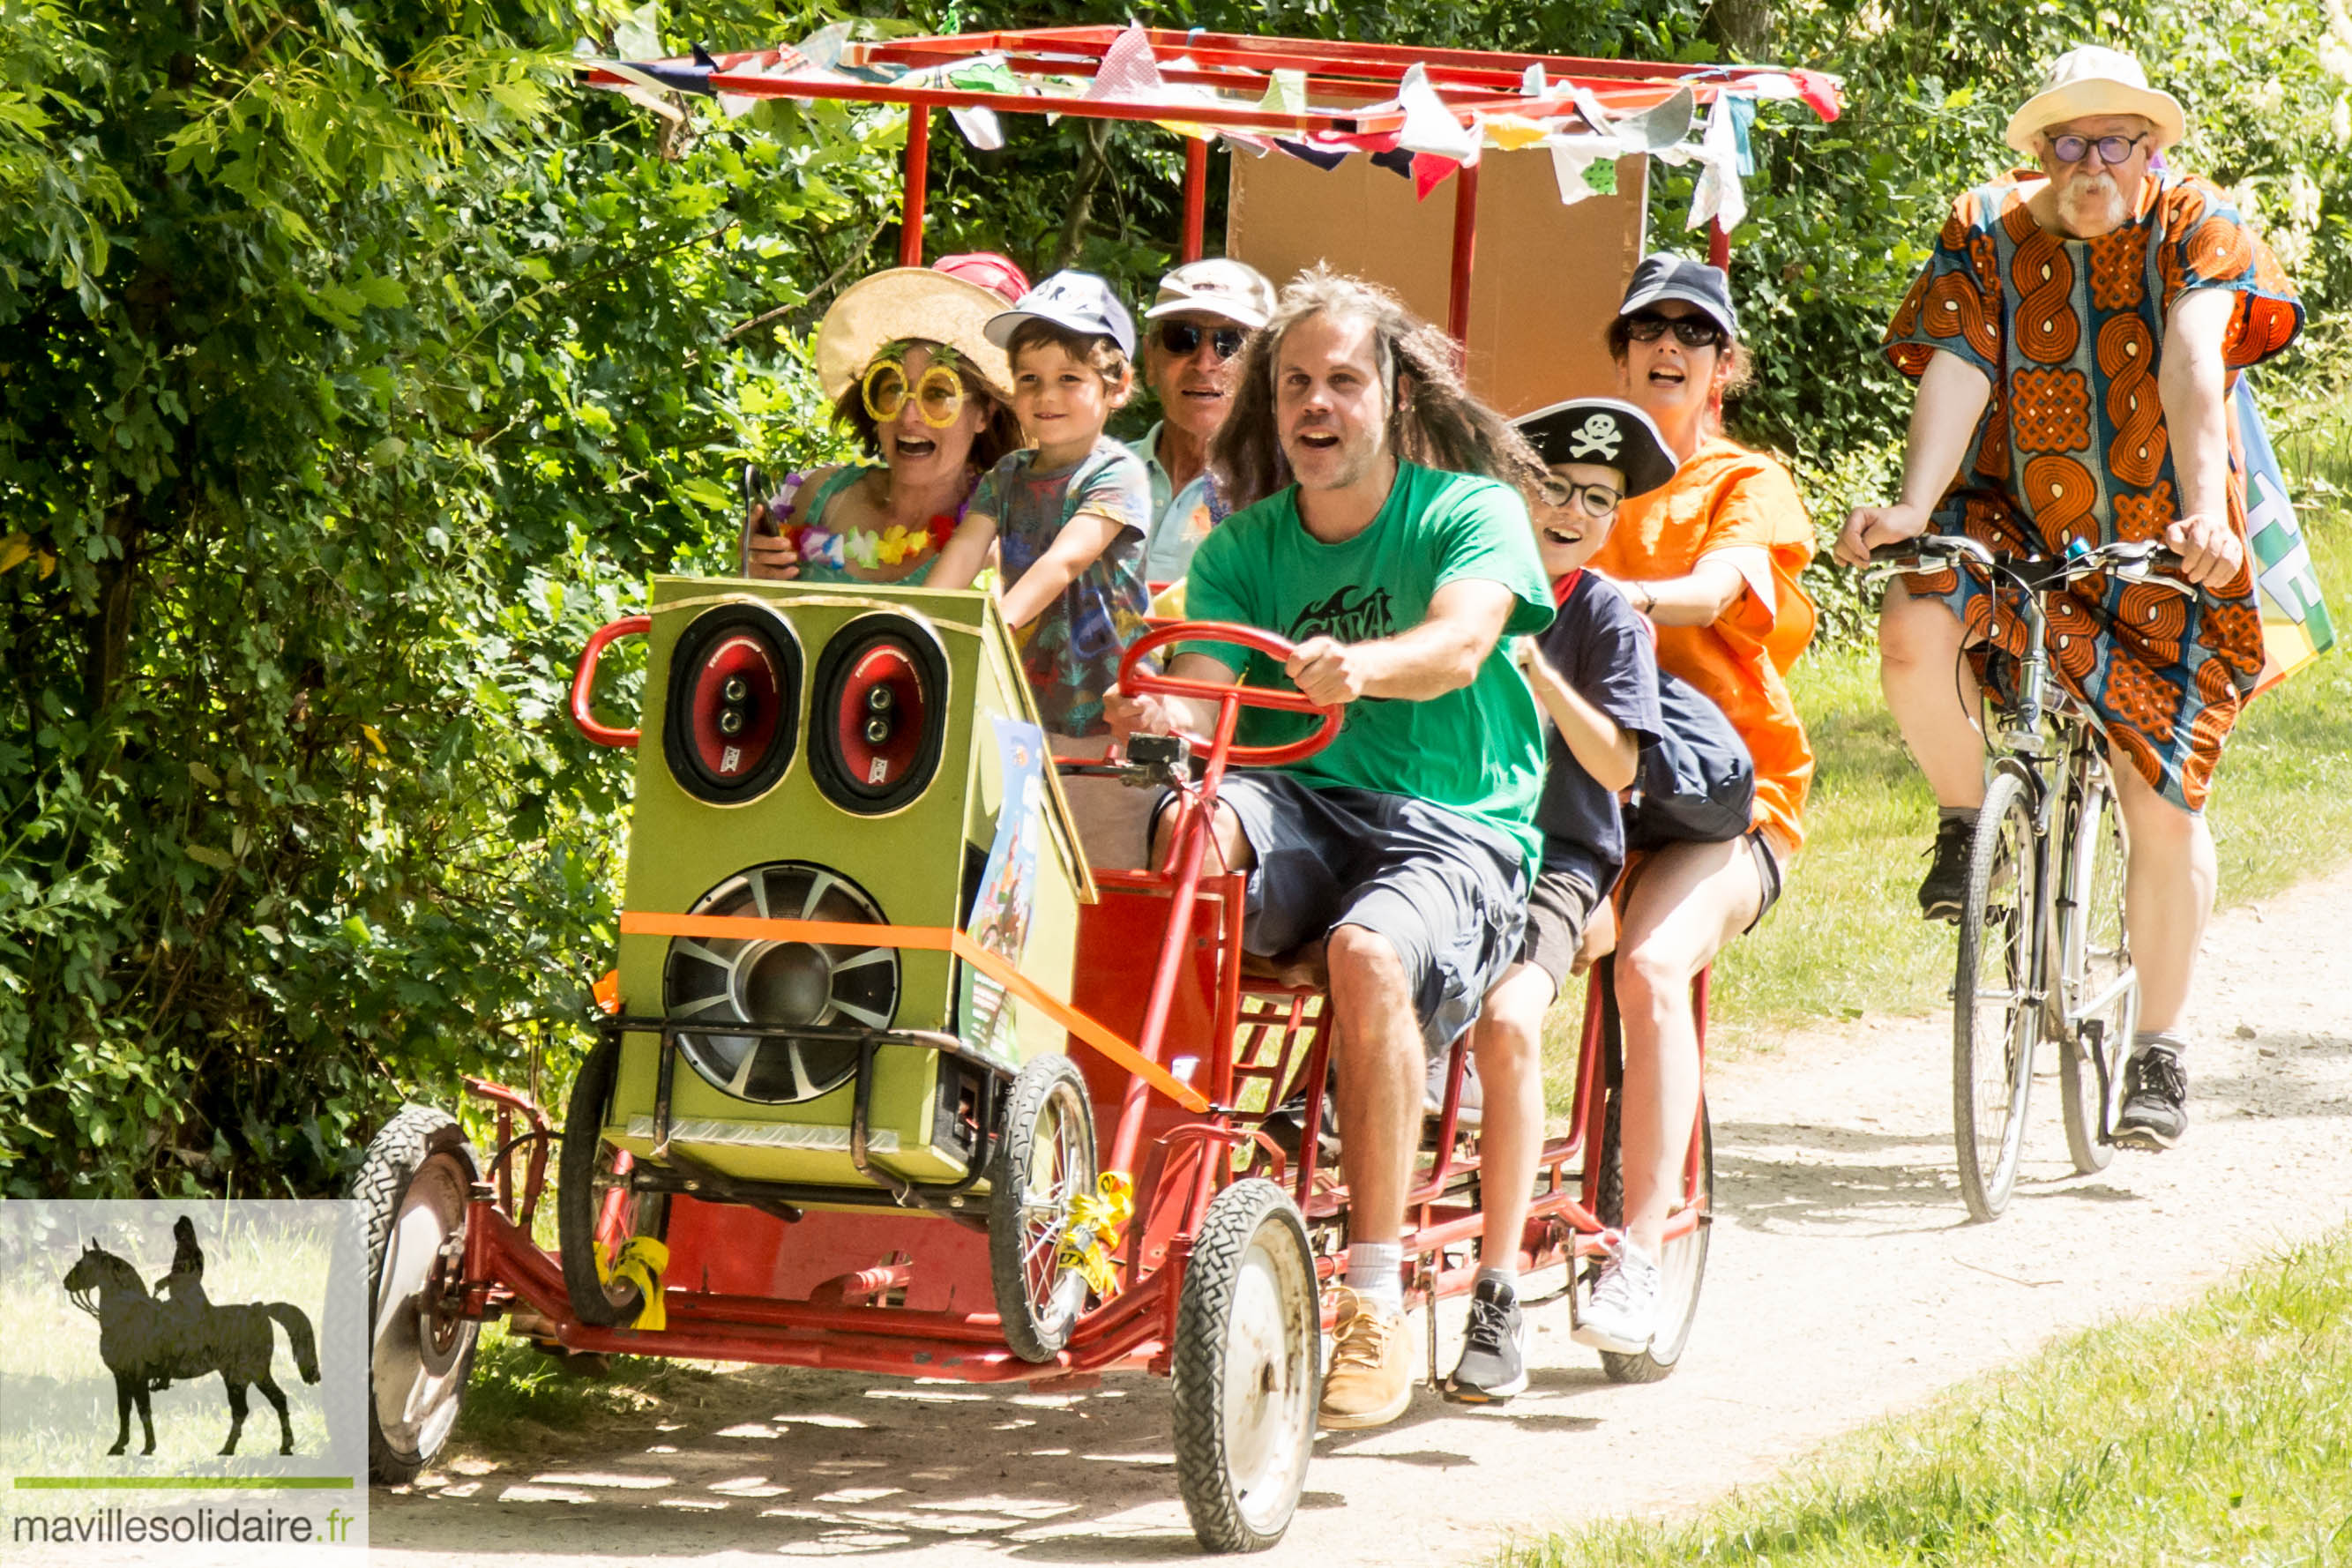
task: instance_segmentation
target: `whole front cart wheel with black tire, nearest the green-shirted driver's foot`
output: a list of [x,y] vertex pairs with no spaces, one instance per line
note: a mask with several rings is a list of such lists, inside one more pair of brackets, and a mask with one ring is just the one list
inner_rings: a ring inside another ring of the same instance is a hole
[[1315,1453],[1322,1309],[1308,1225],[1282,1187],[1216,1194],[1176,1300],[1176,1490],[1204,1552],[1265,1552]]

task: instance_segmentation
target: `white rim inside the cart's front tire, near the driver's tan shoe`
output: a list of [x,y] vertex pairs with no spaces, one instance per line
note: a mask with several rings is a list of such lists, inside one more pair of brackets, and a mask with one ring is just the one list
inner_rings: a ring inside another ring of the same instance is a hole
[[1296,1248],[1277,1255],[1261,1229],[1242,1253],[1225,1324],[1225,1467],[1251,1530],[1284,1521],[1312,1443],[1310,1295]]

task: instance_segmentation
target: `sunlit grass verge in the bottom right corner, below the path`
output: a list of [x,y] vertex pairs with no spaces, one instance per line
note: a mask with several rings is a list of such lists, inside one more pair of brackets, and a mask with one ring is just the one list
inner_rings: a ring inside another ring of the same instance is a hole
[[1686,1523],[1522,1542],[1505,1568],[2340,1563],[2352,1232],[2063,1340]]

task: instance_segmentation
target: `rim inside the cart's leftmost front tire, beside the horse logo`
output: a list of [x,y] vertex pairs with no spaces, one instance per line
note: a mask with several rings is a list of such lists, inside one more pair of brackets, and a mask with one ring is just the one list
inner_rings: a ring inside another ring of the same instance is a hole
[[383,1269],[376,1274],[376,1321],[369,1349],[369,1385],[376,1429],[397,1453],[430,1455],[456,1425],[466,1349],[477,1328],[466,1324],[442,1352],[426,1328],[426,1288],[442,1241],[463,1225],[463,1187],[447,1154],[435,1154],[400,1197]]

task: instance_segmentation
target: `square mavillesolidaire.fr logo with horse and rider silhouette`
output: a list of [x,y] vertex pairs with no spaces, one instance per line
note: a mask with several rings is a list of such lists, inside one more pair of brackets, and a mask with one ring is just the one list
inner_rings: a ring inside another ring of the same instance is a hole
[[0,1201],[0,1559],[365,1552],[362,1225],[343,1201]]

